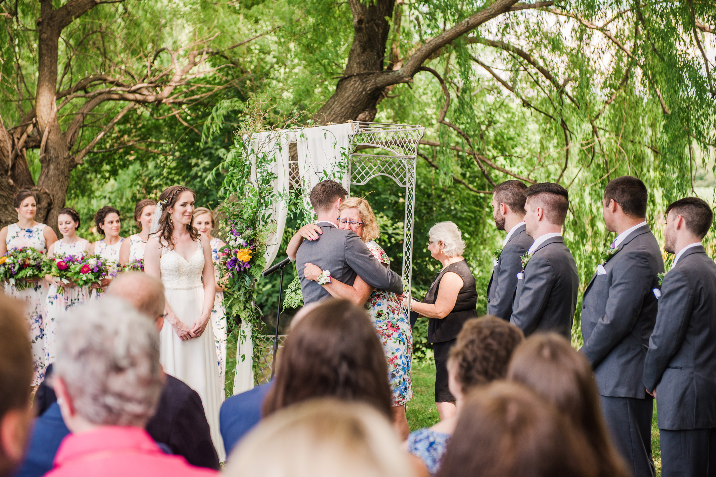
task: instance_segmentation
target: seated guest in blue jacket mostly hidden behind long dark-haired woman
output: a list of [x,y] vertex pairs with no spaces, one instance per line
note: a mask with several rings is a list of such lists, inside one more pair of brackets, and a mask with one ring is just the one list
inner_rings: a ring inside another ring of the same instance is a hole
[[[291,320],[291,326],[295,326],[301,318],[309,311],[320,305],[321,302],[309,303],[302,307]],[[266,394],[269,393],[273,383],[266,383],[256,386],[244,393],[231,396],[224,400],[219,412],[219,424],[221,426],[221,438],[224,441],[226,453],[236,446],[241,438],[251,431],[253,426],[261,421],[261,407]]]

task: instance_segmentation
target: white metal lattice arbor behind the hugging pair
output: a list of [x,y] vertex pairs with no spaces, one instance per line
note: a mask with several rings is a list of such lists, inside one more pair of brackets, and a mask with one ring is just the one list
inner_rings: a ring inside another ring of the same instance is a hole
[[[415,167],[417,144],[425,127],[410,124],[358,122],[350,137],[348,192],[351,185],[364,185],[384,175],[405,187],[405,228],[403,230],[402,280],[412,289],[412,230],[415,219]],[[370,153],[358,152],[372,149]]]

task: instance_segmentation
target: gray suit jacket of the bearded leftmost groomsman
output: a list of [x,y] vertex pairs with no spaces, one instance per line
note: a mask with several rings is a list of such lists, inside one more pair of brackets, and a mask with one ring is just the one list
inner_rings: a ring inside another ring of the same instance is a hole
[[520,257],[530,250],[533,242],[533,238],[527,235],[526,226],[521,225],[505,244],[488,284],[488,315],[510,319],[512,300],[517,290],[517,274],[522,270]]

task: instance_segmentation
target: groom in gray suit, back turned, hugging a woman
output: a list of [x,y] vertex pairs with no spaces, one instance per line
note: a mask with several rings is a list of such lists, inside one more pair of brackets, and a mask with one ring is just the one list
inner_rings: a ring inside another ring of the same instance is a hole
[[355,232],[338,228],[338,208],[345,198],[346,190],[332,180],[319,182],[311,190],[309,200],[318,215],[316,225],[321,228],[321,235],[317,240],[305,240],[296,252],[296,270],[306,305],[331,296],[318,282],[305,277],[306,263],[328,270],[330,277],[347,285],[352,286],[356,276],[360,276],[378,290],[402,295],[400,275],[384,267]]

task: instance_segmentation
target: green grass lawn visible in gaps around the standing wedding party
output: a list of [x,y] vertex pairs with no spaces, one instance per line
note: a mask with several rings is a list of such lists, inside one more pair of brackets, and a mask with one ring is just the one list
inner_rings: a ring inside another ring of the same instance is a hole
[[[435,363],[413,363],[412,400],[407,403],[406,412],[410,431],[427,428],[440,421],[437,408],[435,408]],[[652,418],[652,453],[658,477],[662,475],[662,453],[659,450],[656,402],[654,402],[654,417]]]

